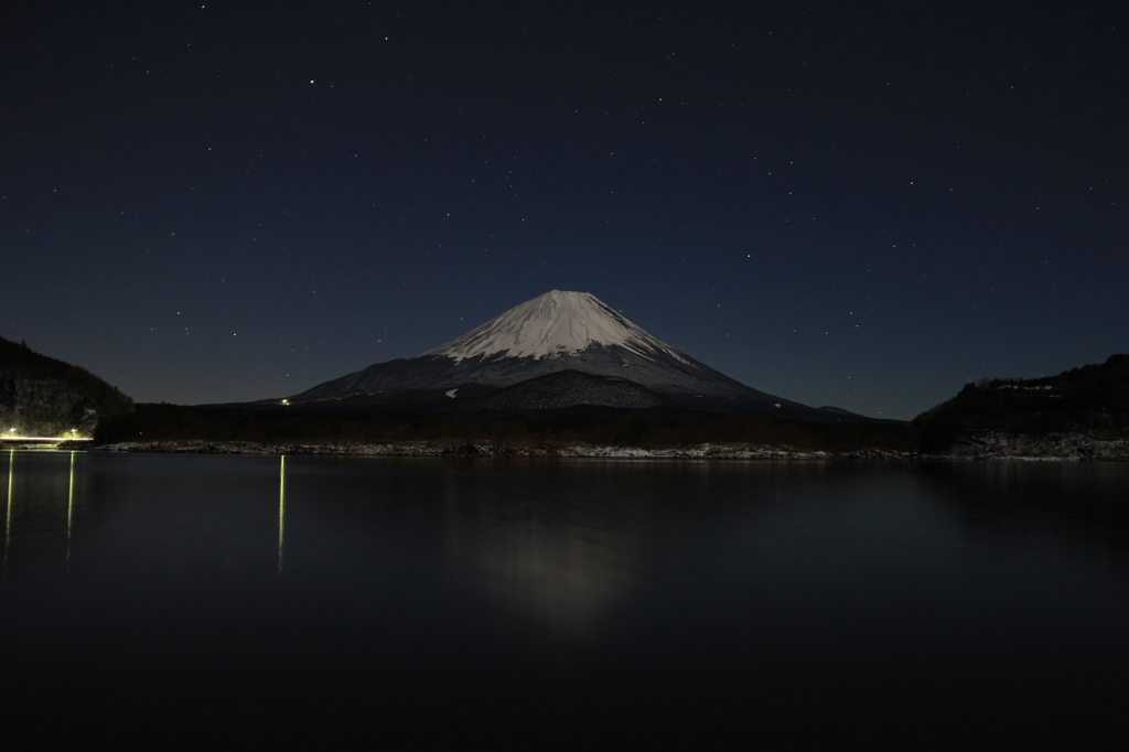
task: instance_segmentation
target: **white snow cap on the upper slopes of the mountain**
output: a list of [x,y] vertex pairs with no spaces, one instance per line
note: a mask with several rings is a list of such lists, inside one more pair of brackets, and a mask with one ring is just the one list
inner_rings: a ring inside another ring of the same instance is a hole
[[664,344],[588,292],[552,290],[510,308],[446,344],[420,353],[461,362],[467,358],[557,358],[575,356],[593,344],[618,346],[654,358],[665,355],[690,365]]

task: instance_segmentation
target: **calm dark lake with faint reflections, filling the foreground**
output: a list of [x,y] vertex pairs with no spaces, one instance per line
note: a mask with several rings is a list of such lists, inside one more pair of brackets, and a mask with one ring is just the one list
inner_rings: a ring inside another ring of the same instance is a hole
[[1127,464],[5,452],[0,473],[6,745],[1129,732]]

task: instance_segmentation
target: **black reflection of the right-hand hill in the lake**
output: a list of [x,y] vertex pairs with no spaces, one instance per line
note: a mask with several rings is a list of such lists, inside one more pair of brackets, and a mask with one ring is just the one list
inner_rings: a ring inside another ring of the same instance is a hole
[[973,542],[1065,546],[1129,577],[1129,465],[956,462],[922,472],[955,491],[951,508]]

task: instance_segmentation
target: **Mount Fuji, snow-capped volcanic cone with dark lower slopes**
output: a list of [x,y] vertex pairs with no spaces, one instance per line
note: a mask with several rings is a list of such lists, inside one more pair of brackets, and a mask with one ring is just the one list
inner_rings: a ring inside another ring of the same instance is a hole
[[656,339],[595,296],[560,290],[414,358],[376,364],[288,400],[326,401],[445,410],[674,406],[822,420],[851,416],[745,386]]

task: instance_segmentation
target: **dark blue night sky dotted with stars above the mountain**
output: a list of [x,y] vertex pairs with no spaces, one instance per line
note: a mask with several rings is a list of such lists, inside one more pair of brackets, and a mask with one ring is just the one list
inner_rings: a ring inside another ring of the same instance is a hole
[[141,402],[551,289],[885,418],[1129,351],[1123,3],[23,6],[0,335]]

